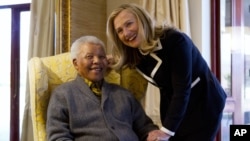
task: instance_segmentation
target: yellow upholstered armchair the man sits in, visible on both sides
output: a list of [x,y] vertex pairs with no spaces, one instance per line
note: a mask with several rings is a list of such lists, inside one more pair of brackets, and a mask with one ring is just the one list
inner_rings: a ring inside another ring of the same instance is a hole
[[[77,72],[72,64],[70,53],[31,58],[28,71],[34,140],[46,141],[45,126],[50,94],[58,85],[73,80]],[[119,73],[111,70],[105,79],[131,90],[137,99],[144,96],[147,87],[147,81],[131,69],[125,69]]]

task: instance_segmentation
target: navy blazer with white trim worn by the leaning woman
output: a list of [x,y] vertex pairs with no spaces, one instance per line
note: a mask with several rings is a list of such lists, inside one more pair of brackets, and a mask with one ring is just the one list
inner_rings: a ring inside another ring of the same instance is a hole
[[167,30],[138,71],[160,89],[162,125],[186,135],[218,127],[226,94],[197,47],[184,33]]

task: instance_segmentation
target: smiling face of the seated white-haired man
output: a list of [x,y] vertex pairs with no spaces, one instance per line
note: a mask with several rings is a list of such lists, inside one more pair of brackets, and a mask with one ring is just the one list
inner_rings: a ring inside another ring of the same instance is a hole
[[82,77],[98,82],[104,78],[108,61],[101,45],[87,43],[81,46],[81,51],[73,60],[73,64]]

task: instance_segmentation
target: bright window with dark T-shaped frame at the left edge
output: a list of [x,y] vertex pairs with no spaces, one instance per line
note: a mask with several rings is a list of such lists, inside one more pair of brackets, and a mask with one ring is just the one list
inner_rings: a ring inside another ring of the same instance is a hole
[[[0,2],[0,140],[18,141],[26,88],[29,4],[31,0]],[[4,20],[3,20],[4,18]],[[12,22],[15,19],[15,22]],[[16,30],[13,30],[16,29]],[[13,33],[13,34],[11,34]],[[19,44],[17,44],[19,43]],[[14,62],[14,63],[13,63]],[[20,102],[19,102],[20,101]],[[11,110],[10,110],[11,109]]]

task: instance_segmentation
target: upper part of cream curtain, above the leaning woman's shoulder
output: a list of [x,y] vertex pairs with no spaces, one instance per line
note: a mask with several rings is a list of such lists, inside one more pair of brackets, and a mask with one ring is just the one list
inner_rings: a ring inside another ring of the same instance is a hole
[[157,24],[172,24],[190,35],[188,0],[139,0]]

